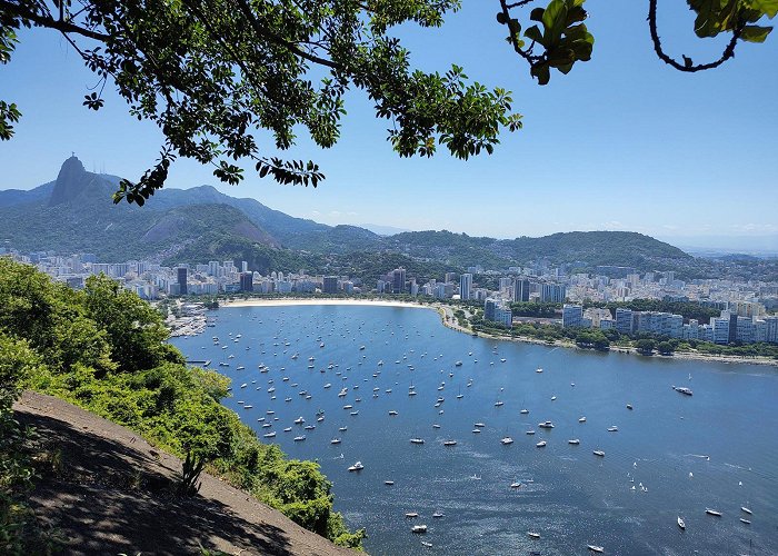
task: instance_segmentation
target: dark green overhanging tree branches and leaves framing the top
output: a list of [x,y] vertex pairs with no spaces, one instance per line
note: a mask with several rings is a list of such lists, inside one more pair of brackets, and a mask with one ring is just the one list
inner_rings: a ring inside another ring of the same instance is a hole
[[[592,56],[585,0],[499,0],[497,22],[540,85],[551,70],[568,73]],[[698,37],[731,34],[718,60],[682,62],[667,54],[649,0],[657,56],[681,71],[715,68],[735,56],[738,41],[762,42],[778,0],[687,0]],[[136,182],[122,180],[114,201],[143,205],[161,188],[178,157],[213,166],[228,183],[242,165],[281,183],[316,187],[323,179],[311,160],[285,160],[298,130],[322,148],[336,143],[343,97],[359,89],[378,118],[391,122],[388,140],[402,157],[432,156],[439,146],[458,158],[491,153],[503,130],[521,127],[510,92],[472,82],[463,69],[425,72],[391,34],[413,22],[439,27],[459,0],[0,0],[0,63],[10,60],[22,28],[60,32],[100,78],[84,96],[104,106],[110,82],[130,113],[164,136],[159,158]],[[525,20],[522,28],[520,19]],[[0,101],[0,140],[10,139],[18,107]],[[257,133],[261,133],[257,137]],[[240,166],[239,166],[240,165]]]

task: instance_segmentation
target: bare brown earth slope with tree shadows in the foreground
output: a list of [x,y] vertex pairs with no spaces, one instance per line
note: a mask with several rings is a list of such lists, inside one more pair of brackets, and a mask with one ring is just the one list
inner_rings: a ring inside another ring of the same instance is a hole
[[31,505],[67,554],[353,554],[205,473],[198,496],[170,496],[178,458],[67,401],[28,391],[14,409],[61,450],[60,471],[38,480]]

